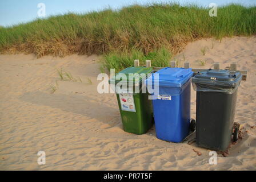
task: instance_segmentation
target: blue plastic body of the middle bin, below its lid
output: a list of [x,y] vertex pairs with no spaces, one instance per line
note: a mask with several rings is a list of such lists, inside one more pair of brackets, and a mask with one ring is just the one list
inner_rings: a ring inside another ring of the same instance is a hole
[[[171,100],[153,100],[155,130],[158,139],[178,143],[189,134],[190,80],[183,85],[183,92],[171,96]],[[167,90],[171,92],[171,89],[160,86],[159,94],[168,95]]]

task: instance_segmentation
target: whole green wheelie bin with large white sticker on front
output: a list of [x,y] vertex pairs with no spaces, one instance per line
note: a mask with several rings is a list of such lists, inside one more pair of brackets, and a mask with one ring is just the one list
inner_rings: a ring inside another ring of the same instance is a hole
[[[123,130],[128,133],[145,134],[153,125],[152,102],[149,100],[147,89],[143,89],[146,92],[142,92],[147,73],[152,71],[152,68],[130,67],[123,69],[123,71],[117,73],[114,78],[109,80],[110,84],[115,85]],[[139,77],[129,78],[130,73],[137,73]],[[125,78],[121,78],[121,75],[125,76]],[[117,84],[121,85],[124,83],[127,85],[126,88],[121,86],[121,89],[117,88]],[[127,93],[122,93],[121,90],[126,90]]]

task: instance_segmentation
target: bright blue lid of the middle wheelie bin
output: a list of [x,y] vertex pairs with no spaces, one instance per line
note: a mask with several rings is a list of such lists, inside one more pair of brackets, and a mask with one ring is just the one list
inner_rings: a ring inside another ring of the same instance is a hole
[[[155,73],[159,74],[159,86],[181,87],[193,76],[194,72],[191,68],[166,67]],[[153,73],[151,77],[147,78],[147,81],[150,80],[149,84],[154,82],[155,73]]]

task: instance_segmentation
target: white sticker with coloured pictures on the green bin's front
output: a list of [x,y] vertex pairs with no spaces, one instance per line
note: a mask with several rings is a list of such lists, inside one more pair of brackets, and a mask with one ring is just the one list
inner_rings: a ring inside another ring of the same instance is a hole
[[136,112],[133,94],[121,93],[119,94],[119,100],[122,110]]

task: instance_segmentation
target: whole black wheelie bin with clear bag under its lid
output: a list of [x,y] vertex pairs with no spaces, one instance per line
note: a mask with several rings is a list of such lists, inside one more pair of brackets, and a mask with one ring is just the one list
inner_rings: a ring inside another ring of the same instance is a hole
[[197,91],[196,142],[200,147],[225,151],[232,135],[237,140],[239,124],[234,125],[239,72],[209,69],[192,79]]

